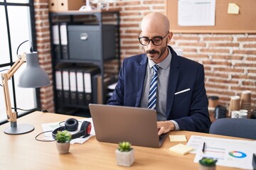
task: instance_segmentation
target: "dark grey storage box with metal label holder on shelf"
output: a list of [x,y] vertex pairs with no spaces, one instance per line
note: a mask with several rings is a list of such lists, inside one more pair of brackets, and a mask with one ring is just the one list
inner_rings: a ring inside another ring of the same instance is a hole
[[[102,25],[102,37],[99,32],[98,26],[68,26],[70,60],[98,61],[115,57],[115,26]],[[102,52],[98,48],[100,43]]]

